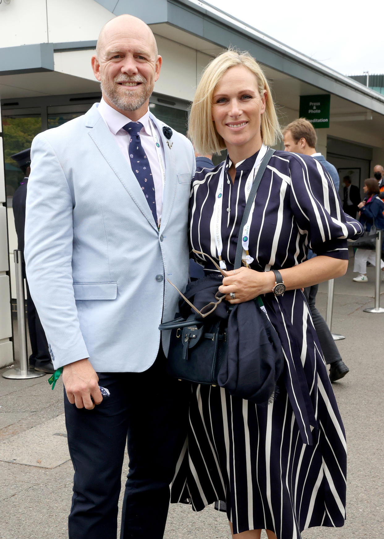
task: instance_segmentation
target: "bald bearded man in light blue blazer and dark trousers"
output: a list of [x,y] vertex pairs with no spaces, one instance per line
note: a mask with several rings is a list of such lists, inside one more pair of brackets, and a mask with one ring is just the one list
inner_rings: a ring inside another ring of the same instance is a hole
[[185,440],[187,386],[166,375],[158,326],[178,304],[166,277],[187,284],[195,159],[149,112],[161,66],[146,24],[111,20],[92,57],[101,102],[32,144],[26,272],[65,386],[70,539],[116,537],[127,437],[120,537],[163,537]]

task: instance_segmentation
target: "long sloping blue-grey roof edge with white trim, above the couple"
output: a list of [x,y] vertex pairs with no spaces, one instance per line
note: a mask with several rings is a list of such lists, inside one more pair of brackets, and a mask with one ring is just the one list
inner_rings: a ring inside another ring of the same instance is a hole
[[[191,37],[200,39],[187,39],[185,44],[201,52],[216,53],[214,45],[220,50],[229,45],[247,50],[265,66],[384,115],[384,95],[291,49],[208,3],[200,0],[145,0],[137,3],[131,0],[95,1],[114,15],[130,13],[141,18],[151,26],[153,32],[169,39],[174,36],[178,43],[183,43],[184,32],[192,34]],[[181,32],[172,35],[170,26]]]

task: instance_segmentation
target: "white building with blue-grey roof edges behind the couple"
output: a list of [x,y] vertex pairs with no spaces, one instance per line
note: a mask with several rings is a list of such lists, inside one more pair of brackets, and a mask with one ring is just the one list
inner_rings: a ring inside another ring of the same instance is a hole
[[[301,95],[331,95],[330,127],[317,129],[317,150],[341,176],[343,170],[353,170],[358,178],[355,183],[362,187],[373,166],[384,164],[384,95],[204,2],[3,0],[0,142],[4,141],[5,190],[0,167],[0,367],[12,361],[10,299],[15,298],[13,249],[17,238],[12,196],[20,172],[10,155],[29,147],[41,130],[85,113],[100,100],[90,58],[103,24],[122,13],[143,19],[155,33],[163,66],[150,107],[173,128],[186,132],[187,108],[201,71],[219,52],[234,46],[248,50],[262,64],[282,125],[298,118]],[[3,345],[6,353],[1,351]]]

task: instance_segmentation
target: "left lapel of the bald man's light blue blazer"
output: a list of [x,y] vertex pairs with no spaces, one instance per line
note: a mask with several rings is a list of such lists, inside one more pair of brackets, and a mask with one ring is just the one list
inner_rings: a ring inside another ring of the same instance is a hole
[[110,168],[115,172],[116,176],[130,195],[132,201],[135,202],[139,210],[141,210],[143,213],[144,217],[148,219],[149,223],[157,231],[155,219],[153,219],[152,212],[149,209],[148,202],[146,202],[145,196],[136,179],[136,176],[125,160],[120,148],[118,148],[106,122],[104,122],[104,120],[101,118],[100,113],[97,112],[96,105],[94,105],[85,114],[85,122],[86,127],[90,128],[89,136],[96,144],[97,148],[99,148],[101,155],[107,161]]

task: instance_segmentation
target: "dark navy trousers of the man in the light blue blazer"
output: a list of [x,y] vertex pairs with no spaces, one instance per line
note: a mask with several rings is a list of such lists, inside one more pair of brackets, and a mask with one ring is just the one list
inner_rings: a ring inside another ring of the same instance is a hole
[[186,438],[190,385],[166,375],[162,349],[147,371],[97,375],[110,397],[93,410],[77,409],[64,392],[75,471],[69,539],[116,538],[127,437],[129,473],[120,537],[161,539],[169,485]]

